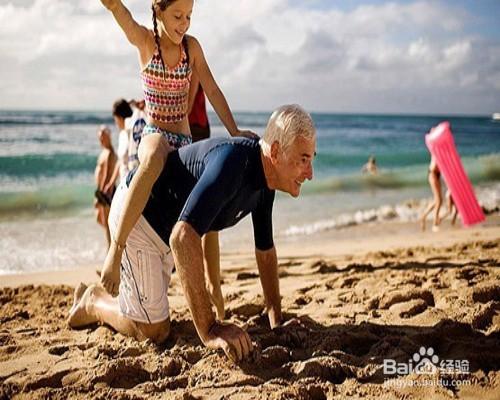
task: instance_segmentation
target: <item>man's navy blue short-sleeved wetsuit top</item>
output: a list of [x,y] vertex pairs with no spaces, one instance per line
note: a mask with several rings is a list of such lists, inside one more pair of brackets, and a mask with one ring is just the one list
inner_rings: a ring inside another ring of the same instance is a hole
[[177,221],[202,236],[251,213],[255,246],[268,250],[274,246],[274,194],[266,185],[257,140],[207,139],[168,155],[143,215],[168,244]]

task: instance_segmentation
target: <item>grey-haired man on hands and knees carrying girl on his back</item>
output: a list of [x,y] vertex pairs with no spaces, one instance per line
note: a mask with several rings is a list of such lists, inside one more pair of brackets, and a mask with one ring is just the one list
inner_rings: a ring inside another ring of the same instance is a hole
[[[255,256],[269,322],[271,328],[279,326],[274,194],[281,190],[297,197],[302,183],[312,179],[315,153],[313,121],[297,105],[276,110],[260,141],[215,138],[171,152],[126,245],[117,245],[123,252],[120,273],[103,271],[101,282],[107,292],[95,285],[76,289],[70,326],[100,321],[139,340],[165,340],[170,330],[167,289],[173,255],[201,341],[207,347],[222,348],[233,360],[247,356],[252,350],[248,334],[235,324],[217,322],[212,311],[201,237],[252,214]],[[113,200],[112,234],[130,179],[120,185]],[[118,281],[116,301],[109,293],[116,295]]]

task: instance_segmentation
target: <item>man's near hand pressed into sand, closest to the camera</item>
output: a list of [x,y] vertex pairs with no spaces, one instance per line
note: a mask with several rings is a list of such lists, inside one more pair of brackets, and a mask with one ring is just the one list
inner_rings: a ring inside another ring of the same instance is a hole
[[246,358],[253,350],[250,336],[237,325],[216,322],[204,340],[205,346],[212,349],[222,349],[224,353],[238,362]]

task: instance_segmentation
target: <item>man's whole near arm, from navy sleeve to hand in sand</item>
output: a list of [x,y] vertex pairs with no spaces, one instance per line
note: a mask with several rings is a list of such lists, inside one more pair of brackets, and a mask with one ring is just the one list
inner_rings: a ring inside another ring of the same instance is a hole
[[245,154],[234,146],[211,153],[170,235],[170,248],[200,339],[207,347],[223,349],[235,361],[248,355],[252,343],[238,326],[215,321],[205,284],[201,237],[241,186],[246,162]]

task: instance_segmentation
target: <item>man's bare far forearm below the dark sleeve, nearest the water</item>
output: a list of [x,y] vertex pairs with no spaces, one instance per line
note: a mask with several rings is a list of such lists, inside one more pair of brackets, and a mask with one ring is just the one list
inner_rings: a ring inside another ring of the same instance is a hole
[[255,249],[255,258],[259,269],[260,283],[264,292],[267,315],[271,329],[281,324],[281,296],[278,279],[278,257],[276,248],[269,250]]

